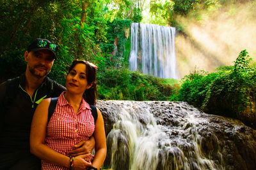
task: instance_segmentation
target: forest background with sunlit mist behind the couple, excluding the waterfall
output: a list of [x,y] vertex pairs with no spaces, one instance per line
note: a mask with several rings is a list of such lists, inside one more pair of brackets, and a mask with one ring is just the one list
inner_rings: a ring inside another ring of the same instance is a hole
[[[47,38],[59,46],[49,74],[58,83],[65,85],[72,60],[90,60],[99,67],[99,99],[187,101],[207,113],[236,117],[256,127],[255,7],[253,0],[3,0],[0,81],[24,73],[29,43]],[[225,15],[218,15],[220,11]],[[230,19],[236,13],[244,15]],[[129,71],[132,22],[176,27],[182,80]],[[238,30],[243,34],[234,36],[236,31],[225,22],[244,28]]]

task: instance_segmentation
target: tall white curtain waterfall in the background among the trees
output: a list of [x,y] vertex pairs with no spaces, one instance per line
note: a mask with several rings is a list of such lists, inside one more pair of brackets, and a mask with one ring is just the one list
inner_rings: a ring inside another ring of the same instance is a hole
[[130,69],[161,78],[179,78],[174,46],[175,27],[132,23]]

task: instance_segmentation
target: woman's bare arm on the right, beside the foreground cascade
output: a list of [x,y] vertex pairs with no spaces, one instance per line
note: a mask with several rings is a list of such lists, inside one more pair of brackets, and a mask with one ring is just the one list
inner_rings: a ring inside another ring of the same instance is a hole
[[93,167],[100,169],[107,154],[106,134],[104,129],[104,120],[97,109],[98,118],[95,125],[94,138],[95,138],[95,157],[92,162]]

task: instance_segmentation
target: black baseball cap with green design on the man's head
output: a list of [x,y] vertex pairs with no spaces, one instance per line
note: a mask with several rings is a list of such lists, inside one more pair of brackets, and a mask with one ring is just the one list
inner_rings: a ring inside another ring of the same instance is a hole
[[38,50],[49,50],[53,53],[54,59],[57,59],[56,52],[58,45],[51,43],[48,39],[36,38],[31,45],[28,46],[28,52],[36,52]]

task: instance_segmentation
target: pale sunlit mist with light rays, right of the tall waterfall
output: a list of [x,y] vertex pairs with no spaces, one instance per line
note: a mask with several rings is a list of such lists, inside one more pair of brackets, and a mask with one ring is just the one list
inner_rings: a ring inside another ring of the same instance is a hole
[[255,62],[256,2],[221,6],[195,11],[178,17],[185,34],[175,38],[180,78],[190,71],[213,72],[219,66],[230,66],[246,49]]

